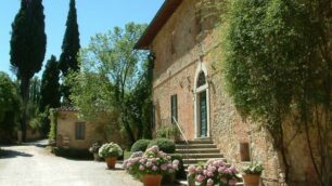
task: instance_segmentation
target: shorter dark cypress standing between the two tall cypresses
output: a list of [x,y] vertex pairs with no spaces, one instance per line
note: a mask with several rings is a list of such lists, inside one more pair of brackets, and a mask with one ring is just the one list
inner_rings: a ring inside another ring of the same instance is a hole
[[39,110],[46,111],[46,108],[56,108],[60,106],[60,69],[54,55],[48,61],[42,74],[40,88]]

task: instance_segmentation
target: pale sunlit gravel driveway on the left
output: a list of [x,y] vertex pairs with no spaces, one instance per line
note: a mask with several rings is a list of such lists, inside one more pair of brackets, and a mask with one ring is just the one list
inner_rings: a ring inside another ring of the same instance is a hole
[[104,162],[55,157],[44,144],[2,147],[0,186],[142,186],[123,170],[106,170]]

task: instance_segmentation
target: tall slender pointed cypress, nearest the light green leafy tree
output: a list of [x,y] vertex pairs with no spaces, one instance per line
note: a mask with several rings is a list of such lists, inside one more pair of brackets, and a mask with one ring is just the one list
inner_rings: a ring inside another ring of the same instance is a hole
[[[69,12],[67,16],[66,30],[62,43],[62,53],[60,56],[60,69],[62,75],[66,77],[71,70],[78,71],[79,64],[77,59],[79,44],[79,31],[77,24],[77,13],[75,8],[75,0],[71,0]],[[63,87],[62,94],[64,102],[69,102],[71,88]]]

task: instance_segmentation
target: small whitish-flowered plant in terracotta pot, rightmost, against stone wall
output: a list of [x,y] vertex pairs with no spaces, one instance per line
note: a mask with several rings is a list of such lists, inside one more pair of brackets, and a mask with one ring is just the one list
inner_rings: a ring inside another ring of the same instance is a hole
[[264,168],[260,162],[251,162],[243,169],[243,182],[245,186],[258,186]]

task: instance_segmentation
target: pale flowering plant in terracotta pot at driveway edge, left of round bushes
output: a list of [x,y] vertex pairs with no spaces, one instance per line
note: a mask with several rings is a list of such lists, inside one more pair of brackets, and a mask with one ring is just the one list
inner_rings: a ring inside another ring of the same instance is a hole
[[107,168],[114,169],[117,157],[123,155],[123,149],[115,143],[104,144],[99,149],[99,156],[104,158]]

